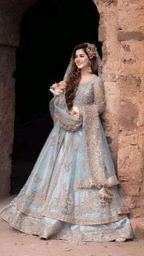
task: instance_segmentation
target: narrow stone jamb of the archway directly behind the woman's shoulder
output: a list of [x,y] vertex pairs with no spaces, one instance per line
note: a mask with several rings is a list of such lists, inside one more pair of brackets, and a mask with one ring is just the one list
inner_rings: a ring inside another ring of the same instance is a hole
[[[120,43],[117,40],[117,1],[95,1],[100,15],[101,26],[105,27],[103,43],[103,81],[106,108],[103,114],[106,137],[117,169],[118,125],[120,89]],[[101,38],[99,38],[101,40]]]

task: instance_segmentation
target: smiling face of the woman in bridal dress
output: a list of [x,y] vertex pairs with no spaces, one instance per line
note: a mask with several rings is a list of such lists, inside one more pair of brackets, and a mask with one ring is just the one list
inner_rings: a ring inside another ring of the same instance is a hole
[[77,49],[74,59],[77,68],[88,68],[90,60],[88,59],[87,54],[85,54],[83,49]]

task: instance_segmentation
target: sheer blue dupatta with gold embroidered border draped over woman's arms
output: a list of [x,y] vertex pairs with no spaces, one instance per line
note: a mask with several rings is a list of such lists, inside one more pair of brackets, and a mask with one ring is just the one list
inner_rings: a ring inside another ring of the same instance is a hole
[[[67,80],[70,68],[71,61],[63,79]],[[99,54],[98,73],[99,76],[101,76],[101,58],[99,57]],[[96,86],[98,93],[99,88],[101,87],[101,79],[99,78],[99,80],[100,82],[98,82],[98,85]],[[101,122],[99,120],[98,112],[98,104],[101,104],[101,100],[102,99],[100,99],[99,103],[81,106],[81,118],[68,114],[65,94],[53,98],[50,102],[50,111],[54,123],[59,122],[63,130],[71,132],[78,130],[82,125],[84,131],[83,139],[85,142],[89,177],[85,180],[78,180],[74,186],[75,189],[92,187],[104,188],[119,184],[117,176],[115,175],[115,170],[104,161],[103,141],[105,136],[101,132]]]

